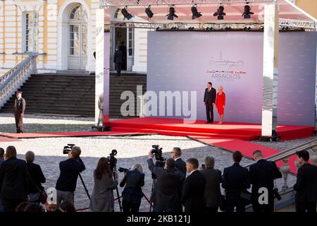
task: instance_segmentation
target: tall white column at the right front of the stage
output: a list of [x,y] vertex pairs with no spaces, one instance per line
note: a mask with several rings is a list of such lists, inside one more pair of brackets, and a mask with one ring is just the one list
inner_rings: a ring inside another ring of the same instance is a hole
[[262,136],[276,131],[278,108],[278,4],[264,7]]

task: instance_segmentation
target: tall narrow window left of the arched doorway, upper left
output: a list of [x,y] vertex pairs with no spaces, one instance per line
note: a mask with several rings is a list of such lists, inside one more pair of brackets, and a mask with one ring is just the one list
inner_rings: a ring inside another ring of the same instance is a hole
[[39,34],[37,12],[25,12],[23,23],[23,50],[25,52],[37,52],[37,38]]

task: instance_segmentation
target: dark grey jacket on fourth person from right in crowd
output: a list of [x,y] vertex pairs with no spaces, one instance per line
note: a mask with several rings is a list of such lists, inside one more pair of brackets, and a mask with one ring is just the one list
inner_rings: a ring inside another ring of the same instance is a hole
[[206,207],[218,207],[220,203],[221,171],[218,169],[202,169],[200,171],[206,177],[205,202]]

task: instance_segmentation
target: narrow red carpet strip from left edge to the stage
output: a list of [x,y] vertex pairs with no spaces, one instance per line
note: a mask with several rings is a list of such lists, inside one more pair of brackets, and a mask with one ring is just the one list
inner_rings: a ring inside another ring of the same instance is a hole
[[[45,138],[45,137],[73,137],[73,136],[129,136],[139,135],[140,133],[127,132],[70,132],[70,133],[0,133],[1,138]],[[144,134],[142,134],[144,135]]]

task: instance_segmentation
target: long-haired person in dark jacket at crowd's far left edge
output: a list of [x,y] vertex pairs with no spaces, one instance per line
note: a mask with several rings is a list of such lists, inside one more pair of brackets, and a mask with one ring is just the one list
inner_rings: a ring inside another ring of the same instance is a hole
[[27,200],[27,165],[16,158],[13,146],[6,148],[5,161],[0,169],[0,194],[5,212],[15,212],[15,208]]

